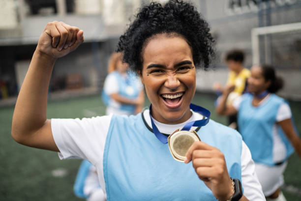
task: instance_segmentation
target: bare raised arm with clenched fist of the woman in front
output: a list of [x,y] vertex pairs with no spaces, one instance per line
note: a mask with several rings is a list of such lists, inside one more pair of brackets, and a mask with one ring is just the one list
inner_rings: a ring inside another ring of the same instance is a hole
[[46,118],[47,93],[56,59],[75,50],[83,31],[62,22],[48,23],[42,32],[21,86],[12,119],[11,135],[24,145],[59,151]]

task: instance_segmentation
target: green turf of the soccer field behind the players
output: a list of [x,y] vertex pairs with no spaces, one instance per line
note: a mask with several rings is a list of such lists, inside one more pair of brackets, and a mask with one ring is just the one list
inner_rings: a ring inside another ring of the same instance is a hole
[[[211,118],[226,123],[214,114],[214,97],[196,94],[193,103],[211,111]],[[147,100],[145,105],[149,105]],[[290,102],[301,133],[301,102]],[[88,96],[48,103],[48,118],[75,118],[104,115],[100,96]],[[61,161],[56,152],[17,144],[11,138],[13,107],[0,108],[0,201],[83,201],[73,194],[73,183],[81,160]],[[294,153],[284,174],[287,201],[301,201],[301,160]]]

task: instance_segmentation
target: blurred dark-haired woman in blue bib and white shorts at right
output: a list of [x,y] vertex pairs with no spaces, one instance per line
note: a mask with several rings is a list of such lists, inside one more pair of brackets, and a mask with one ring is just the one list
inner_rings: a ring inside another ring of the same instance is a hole
[[248,78],[248,91],[232,105],[226,100],[233,87],[228,86],[216,109],[218,114],[238,113],[243,141],[255,162],[255,171],[267,198],[285,201],[280,192],[283,172],[293,147],[301,157],[301,140],[292,124],[292,113],[284,99],[275,95],[282,87],[270,66],[253,66]]

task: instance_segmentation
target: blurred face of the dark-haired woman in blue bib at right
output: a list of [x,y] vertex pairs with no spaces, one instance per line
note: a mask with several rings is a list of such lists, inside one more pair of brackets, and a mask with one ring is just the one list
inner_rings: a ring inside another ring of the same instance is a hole
[[267,90],[271,85],[271,81],[266,81],[263,76],[262,68],[259,66],[252,66],[251,76],[247,80],[248,90],[255,94],[260,94],[261,92]]

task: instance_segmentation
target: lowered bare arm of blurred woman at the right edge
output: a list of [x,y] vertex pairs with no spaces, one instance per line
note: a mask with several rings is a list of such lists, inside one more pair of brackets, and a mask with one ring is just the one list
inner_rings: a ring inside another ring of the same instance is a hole
[[285,119],[283,121],[278,122],[278,124],[281,126],[285,135],[290,140],[291,144],[294,146],[296,152],[298,153],[299,157],[301,158],[301,140],[294,130],[292,120],[290,118]]

